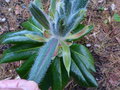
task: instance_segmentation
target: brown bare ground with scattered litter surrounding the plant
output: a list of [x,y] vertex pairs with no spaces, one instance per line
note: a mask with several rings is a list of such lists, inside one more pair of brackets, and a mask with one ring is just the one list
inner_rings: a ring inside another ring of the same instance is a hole
[[[0,0],[0,35],[20,30],[20,24],[28,19],[30,0]],[[49,1],[43,0],[48,12]],[[70,82],[65,90],[120,90],[120,23],[113,20],[114,13],[120,15],[120,0],[90,0],[85,24],[94,24],[91,34],[77,43],[86,45],[95,57],[99,83],[98,88],[83,88]],[[10,45],[0,45],[0,57]],[[0,80],[17,77],[15,68],[21,62],[0,65]]]

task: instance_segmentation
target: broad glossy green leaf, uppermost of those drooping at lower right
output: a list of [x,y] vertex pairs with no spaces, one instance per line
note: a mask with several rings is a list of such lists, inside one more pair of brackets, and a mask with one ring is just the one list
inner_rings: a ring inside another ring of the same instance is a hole
[[[88,62],[92,64],[92,66],[93,66],[92,68],[95,68],[94,67],[94,58],[93,58],[92,54],[90,53],[90,51],[88,50],[88,48],[86,48],[84,45],[79,45],[79,44],[73,44],[70,48],[72,50],[74,50],[75,52],[85,56],[87,58],[86,60],[88,60]],[[93,71],[95,71],[95,70],[93,70]]]

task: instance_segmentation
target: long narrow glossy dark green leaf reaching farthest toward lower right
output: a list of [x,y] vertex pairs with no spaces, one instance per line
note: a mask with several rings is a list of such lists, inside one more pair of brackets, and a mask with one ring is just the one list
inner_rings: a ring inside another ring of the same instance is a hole
[[97,87],[98,85],[97,85],[95,78],[89,72],[85,64],[80,60],[79,56],[76,55],[75,53],[72,53],[72,59],[75,62],[75,64],[78,66],[79,70],[82,72],[82,75],[85,77],[89,86]]

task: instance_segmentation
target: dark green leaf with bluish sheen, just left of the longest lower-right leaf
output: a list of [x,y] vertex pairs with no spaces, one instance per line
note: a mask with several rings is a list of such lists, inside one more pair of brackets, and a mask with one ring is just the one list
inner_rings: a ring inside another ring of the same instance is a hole
[[76,65],[76,63],[72,60],[71,63],[71,77],[77,81],[81,86],[89,86],[89,84],[87,83],[85,77],[83,76],[81,70],[79,69],[79,67]]

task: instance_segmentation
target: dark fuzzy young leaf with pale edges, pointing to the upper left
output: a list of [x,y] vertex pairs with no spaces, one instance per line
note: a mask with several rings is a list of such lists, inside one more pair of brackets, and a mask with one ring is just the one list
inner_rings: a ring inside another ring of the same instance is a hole
[[31,3],[30,5],[30,12],[34,16],[34,18],[45,28],[49,29],[49,21],[46,17],[46,15],[39,9],[37,8],[36,5]]

